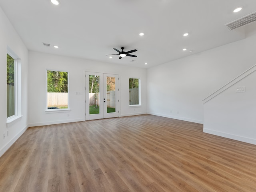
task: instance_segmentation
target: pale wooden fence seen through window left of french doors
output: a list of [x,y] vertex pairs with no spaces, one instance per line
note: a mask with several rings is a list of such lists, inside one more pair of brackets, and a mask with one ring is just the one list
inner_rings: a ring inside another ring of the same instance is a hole
[[68,106],[68,93],[47,93],[47,106]]

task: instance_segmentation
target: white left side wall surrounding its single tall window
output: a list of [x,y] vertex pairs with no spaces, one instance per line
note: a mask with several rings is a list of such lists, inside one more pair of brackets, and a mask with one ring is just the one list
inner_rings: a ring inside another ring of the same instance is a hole
[[[0,156],[15,142],[15,140],[28,127],[28,50],[8,18],[0,8],[0,90],[1,90],[1,107],[0,107]],[[21,114],[23,115],[18,121],[6,126],[6,51],[7,46],[21,59]],[[3,134],[9,131],[9,136],[5,139]]]

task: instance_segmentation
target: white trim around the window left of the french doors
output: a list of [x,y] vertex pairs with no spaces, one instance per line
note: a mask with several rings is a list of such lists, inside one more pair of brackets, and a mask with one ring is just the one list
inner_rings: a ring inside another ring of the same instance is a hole
[[[68,73],[68,108],[65,108],[65,109],[48,109],[48,106],[47,106],[47,92],[48,92],[48,75],[47,75],[47,71],[58,71],[58,72],[67,72]],[[46,113],[63,113],[63,112],[70,112],[70,103],[69,103],[69,72],[68,71],[65,71],[65,70],[55,70],[55,69],[46,69],[46,88],[45,88],[45,112]]]

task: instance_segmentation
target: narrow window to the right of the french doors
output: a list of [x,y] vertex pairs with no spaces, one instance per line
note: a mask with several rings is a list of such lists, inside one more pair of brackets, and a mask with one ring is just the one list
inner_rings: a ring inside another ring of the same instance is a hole
[[140,79],[129,78],[129,105],[140,105]]

